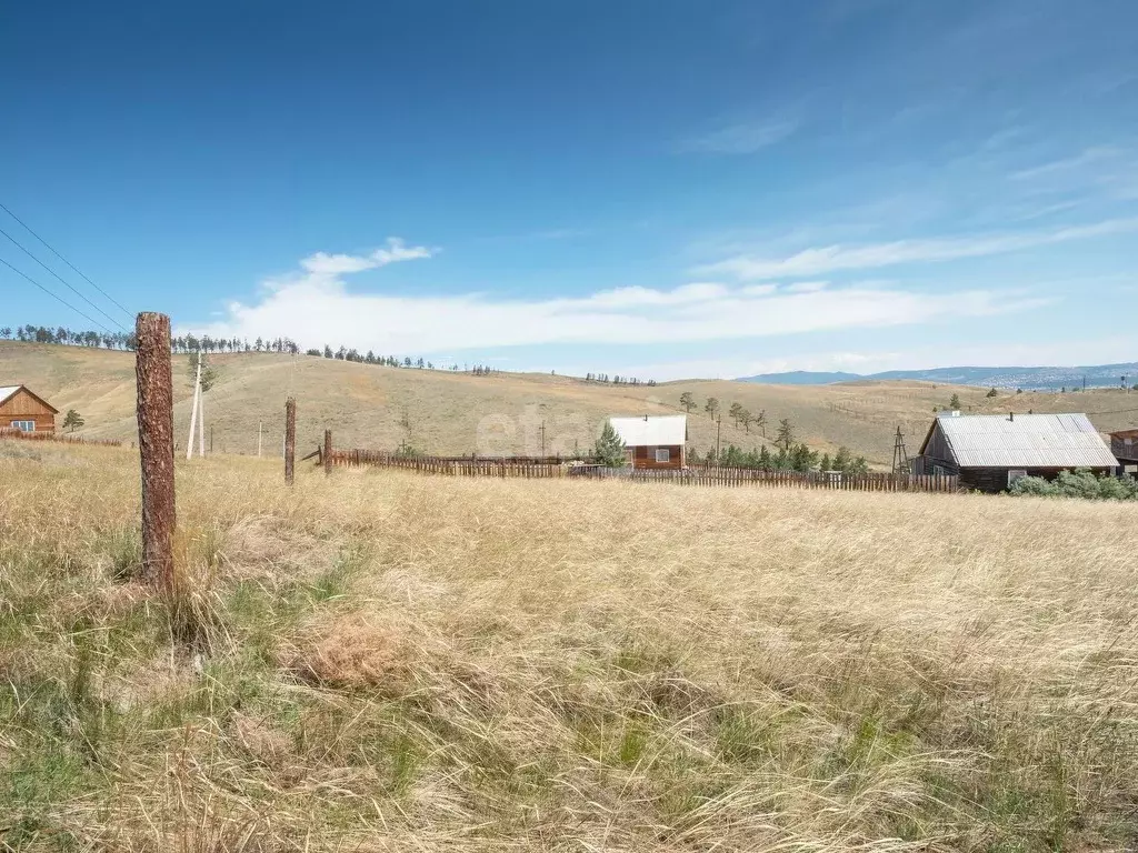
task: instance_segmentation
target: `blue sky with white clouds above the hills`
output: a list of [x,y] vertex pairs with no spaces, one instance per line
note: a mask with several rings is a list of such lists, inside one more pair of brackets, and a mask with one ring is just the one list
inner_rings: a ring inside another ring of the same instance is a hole
[[661,380],[1138,358],[1132,0],[10,3],[0,78],[0,201],[179,330]]

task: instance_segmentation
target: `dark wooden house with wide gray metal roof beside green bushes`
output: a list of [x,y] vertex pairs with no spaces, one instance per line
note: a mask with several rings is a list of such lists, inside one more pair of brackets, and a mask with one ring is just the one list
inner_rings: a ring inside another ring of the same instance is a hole
[[929,428],[917,474],[959,474],[960,486],[1003,491],[1021,477],[1054,479],[1061,471],[1111,474],[1119,462],[1083,414],[962,415],[946,412]]

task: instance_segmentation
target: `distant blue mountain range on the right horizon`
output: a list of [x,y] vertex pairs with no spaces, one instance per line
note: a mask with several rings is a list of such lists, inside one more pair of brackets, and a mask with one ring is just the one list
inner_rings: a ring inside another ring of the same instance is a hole
[[739,382],[762,382],[778,386],[828,386],[835,382],[866,380],[916,380],[941,384],[980,386],[982,388],[1025,388],[1050,390],[1063,387],[1118,388],[1138,383],[1138,362],[1127,364],[1097,364],[1086,367],[934,367],[924,371],[885,371],[884,373],[843,373],[790,371],[789,373],[760,373],[740,376]]

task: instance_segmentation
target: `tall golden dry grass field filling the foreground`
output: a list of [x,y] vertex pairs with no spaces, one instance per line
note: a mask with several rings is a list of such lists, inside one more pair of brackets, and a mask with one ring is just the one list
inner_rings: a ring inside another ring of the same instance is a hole
[[138,479],[0,441],[6,850],[1138,845],[1132,505]]

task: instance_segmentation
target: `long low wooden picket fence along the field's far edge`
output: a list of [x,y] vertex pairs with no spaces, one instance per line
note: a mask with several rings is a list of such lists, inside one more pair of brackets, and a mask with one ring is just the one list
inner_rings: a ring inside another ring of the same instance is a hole
[[937,474],[866,473],[836,475],[798,471],[759,471],[739,467],[698,466],[683,470],[611,469],[595,464],[539,463],[523,459],[470,458],[445,456],[404,457],[384,450],[332,450],[336,467],[391,467],[444,477],[511,477],[527,480],[574,478],[582,480],[624,480],[627,482],[669,482],[679,486],[830,489],[836,491],[932,491],[953,492],[959,478]]

